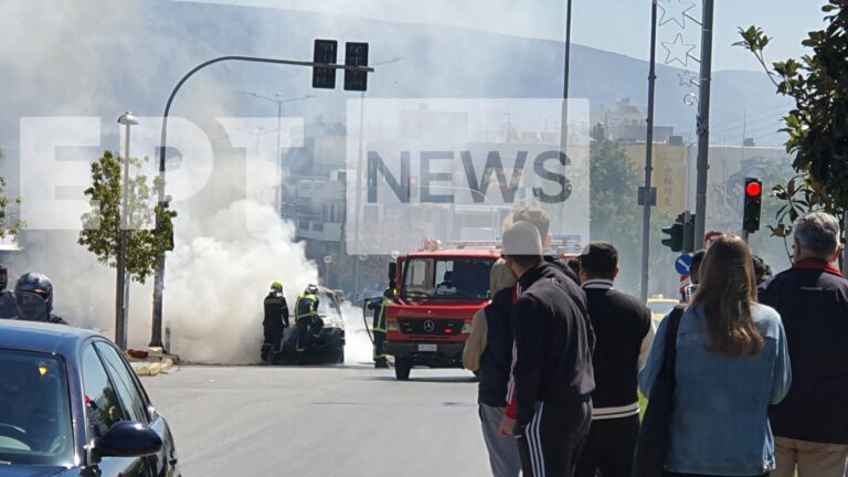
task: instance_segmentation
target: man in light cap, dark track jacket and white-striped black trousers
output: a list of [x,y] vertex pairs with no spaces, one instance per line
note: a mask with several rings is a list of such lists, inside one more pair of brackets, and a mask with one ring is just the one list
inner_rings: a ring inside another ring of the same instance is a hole
[[572,298],[576,285],[542,259],[536,226],[515,223],[504,233],[504,252],[520,296],[501,433],[516,435],[524,477],[570,477],[592,416],[591,324]]

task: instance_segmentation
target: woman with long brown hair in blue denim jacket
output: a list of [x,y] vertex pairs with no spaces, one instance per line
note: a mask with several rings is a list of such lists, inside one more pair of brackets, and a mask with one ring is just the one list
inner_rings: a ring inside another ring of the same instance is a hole
[[[792,380],[777,312],[756,303],[745,242],[710,245],[700,286],[677,336],[668,476],[767,476],[775,468],[768,405]],[[649,395],[662,365],[668,320],[659,325],[639,386]]]

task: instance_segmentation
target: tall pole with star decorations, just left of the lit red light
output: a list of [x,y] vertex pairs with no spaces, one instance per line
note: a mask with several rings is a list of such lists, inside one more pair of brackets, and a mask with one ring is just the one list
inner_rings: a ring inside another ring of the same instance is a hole
[[698,100],[698,179],[695,195],[695,241],[703,243],[707,231],[707,174],[710,170],[710,84],[712,83],[712,22],[714,0],[703,0],[701,24],[701,81]]

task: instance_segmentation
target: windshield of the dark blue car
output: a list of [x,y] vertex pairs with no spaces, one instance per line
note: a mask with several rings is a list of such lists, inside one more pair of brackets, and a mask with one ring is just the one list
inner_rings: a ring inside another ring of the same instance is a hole
[[0,350],[0,460],[70,466],[74,462],[64,362]]

